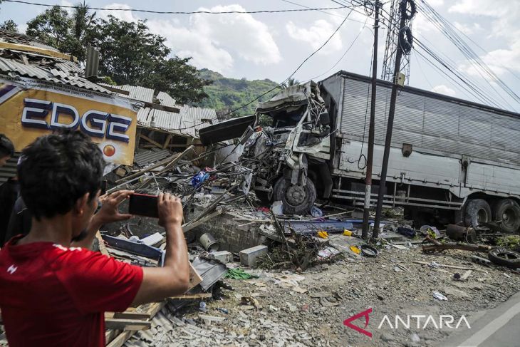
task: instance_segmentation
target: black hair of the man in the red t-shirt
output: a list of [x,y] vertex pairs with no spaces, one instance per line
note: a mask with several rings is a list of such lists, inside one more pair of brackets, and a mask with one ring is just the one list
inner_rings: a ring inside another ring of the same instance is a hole
[[76,201],[101,187],[105,161],[87,135],[62,130],[41,136],[26,147],[18,167],[20,192],[33,217],[66,214]]

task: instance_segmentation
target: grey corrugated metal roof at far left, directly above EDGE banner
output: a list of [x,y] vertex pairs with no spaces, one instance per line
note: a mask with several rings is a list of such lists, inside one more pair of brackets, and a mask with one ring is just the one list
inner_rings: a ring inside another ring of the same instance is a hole
[[[72,62],[67,62],[61,59],[56,59],[56,61],[59,61],[61,65],[58,66],[58,64],[55,64],[51,68],[51,66],[43,65],[25,65],[24,63],[21,63],[14,59],[0,57],[0,71],[3,71],[4,73],[6,73],[6,75],[9,75],[13,78],[18,76],[31,77],[53,83],[63,83],[68,84],[70,86],[76,86],[79,88],[85,88],[95,90],[101,93],[111,94],[109,90],[101,86],[98,86],[97,84],[92,83],[83,77],[73,75],[73,69],[76,68],[73,68],[73,66],[71,66],[71,64],[73,64]],[[62,68],[64,70],[62,70]],[[78,70],[76,69],[76,71]],[[81,73],[83,73],[83,70],[80,71]]]

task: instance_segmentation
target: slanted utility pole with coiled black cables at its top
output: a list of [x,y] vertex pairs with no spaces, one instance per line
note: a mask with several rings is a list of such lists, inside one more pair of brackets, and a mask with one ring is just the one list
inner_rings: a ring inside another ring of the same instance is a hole
[[[406,6],[406,1],[401,1],[401,6]],[[400,11],[400,23],[399,31],[397,35],[400,35],[403,28],[405,28],[405,16],[402,16]],[[385,152],[383,154],[383,167],[381,167],[381,176],[379,181],[379,195],[378,195],[378,207],[375,209],[375,220],[374,220],[374,231],[372,238],[377,239],[379,237],[379,223],[381,220],[381,212],[383,210],[383,200],[385,195],[386,185],[386,174],[388,172],[388,157],[390,156],[390,145],[392,143],[392,131],[394,128],[394,115],[395,115],[395,100],[397,99],[397,88],[399,88],[398,79],[401,67],[402,48],[397,46],[397,52],[395,52],[395,68],[393,76],[392,94],[390,95],[390,110],[388,111],[388,124],[386,127],[386,138],[385,138]]]

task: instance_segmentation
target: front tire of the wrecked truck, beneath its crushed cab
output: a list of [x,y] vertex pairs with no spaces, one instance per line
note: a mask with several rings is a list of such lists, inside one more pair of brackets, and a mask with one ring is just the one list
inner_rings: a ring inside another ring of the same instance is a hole
[[308,214],[316,201],[316,187],[313,182],[306,177],[307,184],[287,185],[285,177],[280,177],[273,190],[273,200],[284,203],[284,213],[286,214]]

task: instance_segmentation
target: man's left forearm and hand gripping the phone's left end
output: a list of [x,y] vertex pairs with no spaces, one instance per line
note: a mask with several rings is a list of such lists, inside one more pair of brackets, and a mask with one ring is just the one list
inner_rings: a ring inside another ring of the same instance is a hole
[[90,219],[90,223],[87,227],[87,236],[81,241],[72,242],[71,247],[83,247],[90,249],[94,241],[95,233],[98,232],[103,224],[130,219],[132,214],[120,213],[119,205],[121,202],[125,201],[125,199],[128,199],[128,197],[130,197],[130,195],[133,193],[134,192],[132,190],[119,190],[118,192],[113,192],[110,195],[100,197],[102,205],[98,213],[94,214]]

